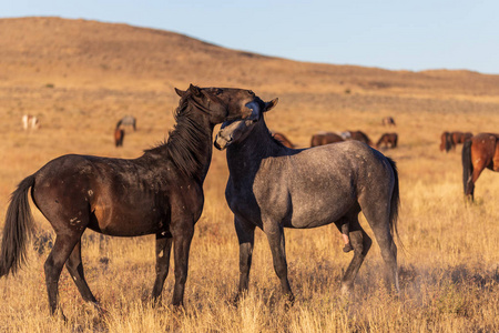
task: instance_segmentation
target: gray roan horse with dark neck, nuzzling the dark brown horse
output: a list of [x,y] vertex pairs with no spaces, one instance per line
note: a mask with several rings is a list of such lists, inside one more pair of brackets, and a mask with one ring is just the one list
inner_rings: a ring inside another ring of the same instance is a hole
[[[277,100],[259,109],[271,110]],[[275,273],[283,293],[294,300],[287,279],[283,228],[307,229],[335,223],[349,225],[354,258],[342,281],[348,294],[371,245],[358,221],[363,211],[387,264],[386,278],[397,292],[397,233],[399,206],[395,162],[358,141],[309,149],[289,149],[274,140],[263,113],[225,122],[215,147],[227,149],[230,178],[225,198],[234,213],[240,242],[240,286],[248,287],[255,228],[267,236]]]

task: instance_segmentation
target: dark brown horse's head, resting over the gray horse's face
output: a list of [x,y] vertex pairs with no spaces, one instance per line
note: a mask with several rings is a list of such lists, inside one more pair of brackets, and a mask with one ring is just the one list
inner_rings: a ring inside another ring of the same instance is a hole
[[236,88],[198,88],[193,84],[176,93],[187,103],[204,111],[212,124],[228,120],[254,118],[263,107],[262,100],[251,90]]

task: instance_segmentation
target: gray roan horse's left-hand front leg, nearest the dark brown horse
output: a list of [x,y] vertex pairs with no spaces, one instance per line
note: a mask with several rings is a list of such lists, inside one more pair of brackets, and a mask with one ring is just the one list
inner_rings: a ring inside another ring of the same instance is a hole
[[255,225],[238,219],[237,216],[234,218],[234,225],[240,242],[240,287],[234,300],[237,302],[248,289],[253,245],[255,243]]

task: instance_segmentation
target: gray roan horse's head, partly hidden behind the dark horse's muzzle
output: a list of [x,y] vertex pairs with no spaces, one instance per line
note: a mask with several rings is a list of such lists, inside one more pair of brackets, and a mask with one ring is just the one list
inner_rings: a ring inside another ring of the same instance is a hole
[[264,102],[258,99],[258,101],[254,102],[257,105],[253,105],[252,103],[249,104],[249,107],[253,107],[253,112],[248,118],[224,122],[216,134],[215,148],[218,150],[224,150],[228,145],[246,139],[258,120],[262,118],[262,113],[273,109],[277,104],[277,101],[278,99]]

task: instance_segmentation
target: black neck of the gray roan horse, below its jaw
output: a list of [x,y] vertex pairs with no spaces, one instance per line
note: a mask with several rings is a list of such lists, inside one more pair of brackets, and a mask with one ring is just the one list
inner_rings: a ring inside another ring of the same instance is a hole
[[274,155],[282,147],[272,138],[262,119],[248,137],[227,148],[227,164],[231,176],[252,176],[259,169],[262,160]]

